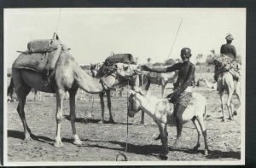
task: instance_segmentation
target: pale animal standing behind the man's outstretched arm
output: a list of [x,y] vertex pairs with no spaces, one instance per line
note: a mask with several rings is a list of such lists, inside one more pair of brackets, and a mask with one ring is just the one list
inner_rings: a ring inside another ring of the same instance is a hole
[[168,73],[156,73],[156,72],[147,72],[143,76],[143,84],[146,84],[146,90],[149,89],[150,84],[159,84],[162,87],[161,96],[165,96],[166,85],[168,83],[174,83],[177,78],[177,72],[168,72]]

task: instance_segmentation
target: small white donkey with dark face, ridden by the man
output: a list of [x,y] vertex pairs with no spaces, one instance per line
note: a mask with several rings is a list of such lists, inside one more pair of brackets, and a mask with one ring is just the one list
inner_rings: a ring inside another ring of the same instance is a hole
[[[173,105],[167,99],[158,99],[151,96],[149,92],[131,90],[131,95],[128,99],[128,116],[133,117],[139,110],[143,110],[154,119],[160,130],[160,140],[162,142],[162,151],[160,159],[167,159],[168,149],[168,133],[167,124],[173,124],[175,121],[173,115]],[[204,118],[207,116],[207,100],[204,96],[198,93],[193,93],[193,98],[189,106],[183,112],[183,124],[192,120],[198,132],[197,144],[195,150],[201,146],[201,133],[204,137],[205,151],[208,154],[207,145],[207,129],[204,125]]]

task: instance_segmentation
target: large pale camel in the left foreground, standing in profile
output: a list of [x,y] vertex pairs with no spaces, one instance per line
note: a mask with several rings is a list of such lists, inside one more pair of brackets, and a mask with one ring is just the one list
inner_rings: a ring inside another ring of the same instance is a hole
[[[55,38],[53,40],[57,42],[60,41],[57,36],[54,37]],[[52,41],[50,43],[52,43]],[[38,50],[40,52],[42,51],[44,55],[47,55],[48,53],[50,55],[52,50],[55,51],[55,49]],[[45,78],[42,72],[34,71],[32,68],[27,68],[24,66],[17,67],[17,61],[30,65],[31,60],[24,60],[24,55],[25,54],[21,54],[13,63],[12,74],[16,95],[19,101],[17,111],[23,124],[25,141],[32,139],[32,131],[26,123],[24,107],[26,104],[26,96],[29,94],[30,90],[34,88],[35,90],[47,93],[55,93],[56,136],[54,146],[57,148],[64,146],[61,142],[61,120],[63,119],[62,108],[66,91],[68,91],[70,97],[70,121],[73,130],[73,144],[80,145],[82,142],[79,139],[79,135],[77,134],[75,127],[75,96],[77,90],[80,88],[90,94],[102,93],[102,91],[107,90],[108,87],[119,85],[119,78],[124,78],[128,75],[133,76],[136,74],[135,72],[137,72],[137,70],[135,70],[137,67],[131,66],[124,69],[123,65],[119,63],[106,67],[108,71],[105,76],[102,76],[102,78],[92,78],[90,75],[85,73],[81,67],[79,67],[79,64],[74,60],[68,49],[61,49],[60,55],[58,55],[55,62],[54,69],[52,72],[49,71],[49,76]],[[33,54],[25,55],[25,58],[28,56],[33,56]],[[42,57],[41,59],[44,58]],[[38,68],[38,65],[32,66]],[[119,78],[117,78],[117,76]]]

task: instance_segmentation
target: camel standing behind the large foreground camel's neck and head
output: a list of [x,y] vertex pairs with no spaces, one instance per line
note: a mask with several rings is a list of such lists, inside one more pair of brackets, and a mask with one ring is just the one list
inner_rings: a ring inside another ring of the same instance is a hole
[[[94,78],[102,78],[104,75],[104,68],[102,67],[103,64],[96,63],[96,64],[90,64],[90,72],[92,74],[92,77]],[[137,75],[129,79],[124,79],[122,82],[121,87],[124,87],[125,85],[129,84],[131,86],[132,90],[135,90],[136,87],[142,84],[142,79],[140,79],[141,76]],[[140,82],[141,81],[141,82]],[[119,86],[120,87],[120,86]],[[107,95],[107,102],[108,102],[108,111],[109,111],[109,120],[108,123],[114,123],[113,121],[113,115],[112,115],[112,109],[111,109],[111,90],[112,88],[109,88],[109,90],[104,90],[101,93],[99,93],[100,101],[101,101],[101,107],[102,107],[102,120],[101,123],[106,123],[104,118],[105,113],[105,104],[104,104],[104,95],[106,93]],[[92,116],[92,114],[90,114]],[[142,119],[141,124],[144,124],[144,113],[142,113]]]

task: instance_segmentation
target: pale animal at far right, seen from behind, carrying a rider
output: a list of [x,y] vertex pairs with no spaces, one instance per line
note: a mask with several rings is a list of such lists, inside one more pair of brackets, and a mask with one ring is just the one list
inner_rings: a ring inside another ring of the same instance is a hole
[[[237,113],[240,113],[241,110],[241,83],[238,80],[233,79],[233,75],[230,72],[221,72],[218,75],[218,81],[217,81],[217,88],[218,88],[218,95],[220,97],[221,101],[221,109],[222,109],[222,122],[225,122],[224,119],[224,93],[227,92],[228,97],[226,100],[226,105],[229,112],[229,119],[233,120],[233,115],[236,115]],[[237,109],[234,109],[234,105],[232,103],[232,96],[233,94],[236,94],[240,105],[237,107]]]

